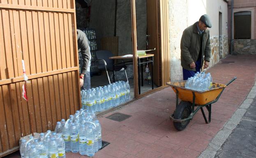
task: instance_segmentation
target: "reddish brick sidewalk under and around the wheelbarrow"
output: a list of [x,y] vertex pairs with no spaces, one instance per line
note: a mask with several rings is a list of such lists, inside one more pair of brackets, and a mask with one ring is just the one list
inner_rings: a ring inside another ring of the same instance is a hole
[[[184,131],[177,131],[169,119],[175,110],[175,93],[167,87],[98,118],[102,140],[111,144],[94,158],[196,158],[231,118],[255,82],[256,55],[228,55],[223,61],[230,63],[219,62],[208,71],[213,82],[226,84],[234,76],[238,78],[212,105],[210,124],[205,124],[198,111]],[[106,118],[115,112],[131,117],[121,122]],[[67,153],[66,157],[86,156]]]

